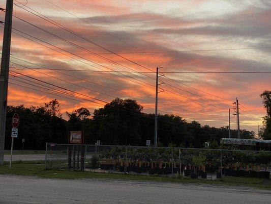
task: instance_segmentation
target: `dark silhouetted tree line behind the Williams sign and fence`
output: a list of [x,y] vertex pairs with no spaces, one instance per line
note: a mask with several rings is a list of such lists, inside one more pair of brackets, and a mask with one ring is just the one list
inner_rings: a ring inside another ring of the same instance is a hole
[[[94,144],[101,140],[104,145],[144,146],[146,140],[154,143],[154,114],[146,114],[136,100],[115,98],[103,108],[92,114],[86,108],[66,112],[68,119],[61,115],[57,99],[39,107],[26,108],[8,106],[5,148],[10,148],[11,119],[19,114],[18,138],[14,148],[44,149],[45,143],[67,143],[68,131],[84,132],[85,144]],[[241,138],[254,138],[253,131],[241,130]],[[188,122],[178,115],[158,115],[158,145],[195,147],[204,146],[206,141],[219,144],[221,138],[228,137],[228,126],[220,128],[201,125],[198,121]],[[231,137],[237,137],[237,131],[231,130]]]

